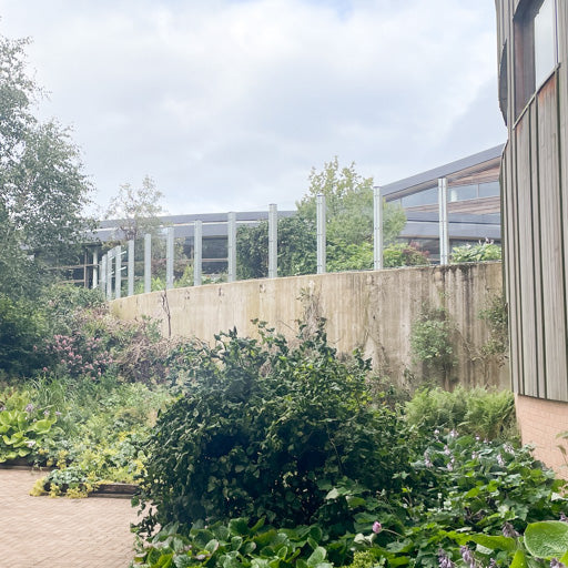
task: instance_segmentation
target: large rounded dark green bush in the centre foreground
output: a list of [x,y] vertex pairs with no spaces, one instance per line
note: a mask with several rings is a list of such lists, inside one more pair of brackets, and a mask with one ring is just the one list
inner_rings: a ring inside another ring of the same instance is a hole
[[150,439],[142,529],[248,516],[288,527],[325,518],[341,531],[348,504],[326,500],[333,487],[396,486],[399,423],[373,406],[368,363],[339,361],[322,328],[297,345],[233,331],[192,361],[187,393]]

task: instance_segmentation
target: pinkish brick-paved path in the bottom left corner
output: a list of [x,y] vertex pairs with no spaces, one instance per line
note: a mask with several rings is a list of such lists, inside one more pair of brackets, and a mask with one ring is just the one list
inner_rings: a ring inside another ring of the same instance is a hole
[[128,568],[136,520],[130,499],[31,497],[42,475],[0,469],[0,566]]

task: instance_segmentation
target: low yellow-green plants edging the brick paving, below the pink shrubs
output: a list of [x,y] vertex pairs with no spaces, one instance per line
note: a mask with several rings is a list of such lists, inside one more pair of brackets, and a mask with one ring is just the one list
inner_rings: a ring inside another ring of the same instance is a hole
[[[54,467],[38,484],[34,495],[81,496],[101,481],[133,483],[144,467],[142,447],[149,428],[172,396],[162,388],[125,385],[108,377],[99,383],[88,377],[43,377],[28,382],[26,390],[11,387],[0,392],[0,399],[7,407],[0,412],[0,429],[2,420],[17,413],[17,424],[24,434],[22,439],[10,435],[18,442],[18,455]],[[28,417],[26,423],[22,416]],[[13,459],[9,449],[0,449],[0,456]]]

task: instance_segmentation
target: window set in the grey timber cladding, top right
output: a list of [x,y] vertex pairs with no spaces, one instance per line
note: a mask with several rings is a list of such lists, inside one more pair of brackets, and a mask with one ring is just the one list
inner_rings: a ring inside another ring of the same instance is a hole
[[515,14],[515,113],[558,63],[557,0],[525,0]]

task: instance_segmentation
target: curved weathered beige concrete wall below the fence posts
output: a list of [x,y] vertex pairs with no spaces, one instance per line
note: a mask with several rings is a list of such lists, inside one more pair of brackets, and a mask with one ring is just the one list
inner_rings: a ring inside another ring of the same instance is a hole
[[445,305],[459,361],[453,382],[509,387],[508,368],[480,351],[488,327],[479,311],[501,290],[501,264],[494,262],[176,288],[116,300],[113,312],[125,320],[148,315],[162,322],[166,335],[171,326],[172,335],[206,342],[233,327],[254,336],[252,320],[267,322],[290,337],[306,312],[308,318],[317,314],[326,318],[328,338],[338,351],[361,348],[375,368],[403,384],[412,382],[408,371],[422,374],[412,361],[413,323],[424,305]]

